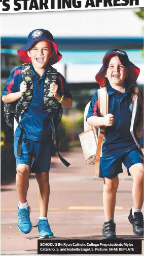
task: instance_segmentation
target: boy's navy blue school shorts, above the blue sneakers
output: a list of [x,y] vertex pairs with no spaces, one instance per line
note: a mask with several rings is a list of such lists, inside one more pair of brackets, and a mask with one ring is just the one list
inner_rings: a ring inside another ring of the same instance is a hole
[[[14,136],[14,154],[16,165],[26,164],[30,166],[30,172],[41,173],[50,170],[53,140],[47,142],[22,139],[21,156],[17,156],[18,136]],[[34,160],[32,160],[34,158]]]

